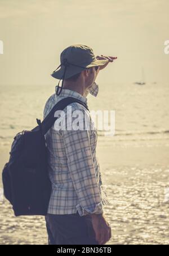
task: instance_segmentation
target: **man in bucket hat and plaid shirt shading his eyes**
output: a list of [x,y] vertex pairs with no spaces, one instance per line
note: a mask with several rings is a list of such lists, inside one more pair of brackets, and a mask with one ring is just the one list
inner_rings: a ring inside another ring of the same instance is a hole
[[[96,76],[116,58],[103,55],[96,58],[90,47],[81,44],[64,49],[60,56],[61,65],[51,74],[63,82],[61,87],[56,86],[56,93],[47,100],[44,118],[65,97],[75,97],[87,104],[89,92],[97,96]],[[54,125],[46,134],[52,183],[45,217],[48,242],[55,245],[103,245],[111,237],[110,225],[103,216],[103,205],[110,204],[110,201],[103,188],[96,155],[97,130],[90,112],[83,105],[72,103],[69,106],[72,113],[81,110],[86,114],[93,129],[64,130],[62,126],[55,129]],[[68,121],[66,110],[65,119]]]

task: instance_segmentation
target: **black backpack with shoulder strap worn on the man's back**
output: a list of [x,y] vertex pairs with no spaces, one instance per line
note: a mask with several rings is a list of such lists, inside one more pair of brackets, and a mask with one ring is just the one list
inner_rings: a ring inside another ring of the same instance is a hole
[[10,160],[3,168],[2,181],[4,195],[12,204],[15,216],[47,215],[51,182],[47,170],[45,134],[57,119],[55,111],[63,110],[74,102],[87,108],[82,101],[66,97],[52,108],[42,123],[37,119],[38,126],[30,131],[23,130],[14,137]]

